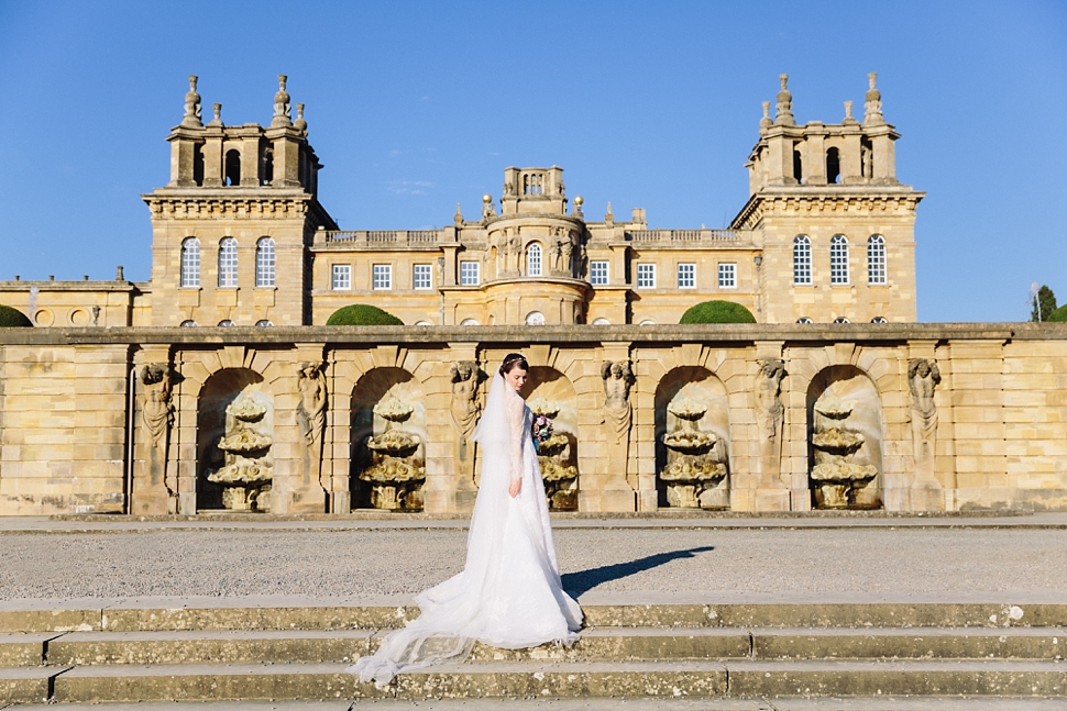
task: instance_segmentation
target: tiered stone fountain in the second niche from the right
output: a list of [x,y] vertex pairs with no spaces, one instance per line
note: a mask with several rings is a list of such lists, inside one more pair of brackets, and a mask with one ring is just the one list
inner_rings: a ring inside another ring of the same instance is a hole
[[679,423],[662,436],[669,451],[667,466],[660,471],[660,479],[667,482],[667,503],[683,509],[729,508],[724,443],[714,433],[696,427],[707,406],[679,398],[667,411]]

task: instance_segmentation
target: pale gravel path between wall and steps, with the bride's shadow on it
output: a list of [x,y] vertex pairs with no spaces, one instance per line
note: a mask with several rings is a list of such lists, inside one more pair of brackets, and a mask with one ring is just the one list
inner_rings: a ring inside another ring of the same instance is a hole
[[[1062,530],[558,530],[564,587],[617,591],[1067,590]],[[458,573],[466,531],[0,535],[0,600],[414,593]]]

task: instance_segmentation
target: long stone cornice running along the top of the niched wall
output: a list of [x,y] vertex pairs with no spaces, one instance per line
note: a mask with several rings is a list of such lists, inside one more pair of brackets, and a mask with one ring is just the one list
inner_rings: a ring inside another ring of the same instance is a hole
[[750,345],[781,341],[790,346],[864,343],[892,346],[909,341],[1067,341],[1067,323],[847,323],[716,325],[573,325],[573,326],[197,326],[0,329],[0,346],[157,345],[221,347],[252,345],[289,348],[297,343],[370,347],[404,343],[438,346],[448,343],[497,344],[615,343],[662,346],[668,343]]

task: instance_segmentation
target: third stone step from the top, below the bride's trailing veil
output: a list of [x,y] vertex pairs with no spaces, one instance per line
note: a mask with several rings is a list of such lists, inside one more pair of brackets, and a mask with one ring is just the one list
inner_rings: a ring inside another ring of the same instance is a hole
[[[1034,660],[483,662],[404,674],[386,689],[359,682],[343,669],[343,664],[59,667],[51,679],[51,698],[65,703],[387,697],[1067,696],[1067,664]],[[19,693],[23,696],[12,696],[11,701],[41,699],[36,696],[40,686],[28,686]]]

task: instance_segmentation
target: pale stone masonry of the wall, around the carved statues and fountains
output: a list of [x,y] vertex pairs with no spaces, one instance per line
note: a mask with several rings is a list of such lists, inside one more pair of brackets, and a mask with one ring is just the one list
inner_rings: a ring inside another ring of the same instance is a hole
[[[683,397],[703,398],[710,409],[696,426],[726,444],[730,510],[809,510],[820,486],[812,433],[821,393],[832,391],[877,425],[859,419],[854,429],[877,443],[867,486],[886,510],[1067,508],[1067,329],[1055,324],[24,329],[0,334],[0,514],[219,506],[205,499],[213,435],[201,430],[216,393],[232,402],[241,388],[273,402],[270,510],[370,506],[360,498],[360,427],[371,406],[396,396],[415,407],[403,426],[422,437],[426,511],[468,511],[480,453],[471,443],[471,457],[458,456],[451,366],[492,373],[514,349],[530,359],[529,401],[552,400],[558,430],[572,438],[580,511],[670,506],[661,442],[667,411]],[[772,357],[785,373],[780,459],[767,456],[758,426],[759,362]],[[916,358],[939,369],[928,475],[916,466],[910,424]],[[307,467],[298,418],[298,373],[315,360],[324,363],[328,391],[321,475]],[[634,373],[622,459],[604,415],[605,360],[629,360]],[[172,373],[166,454],[154,463],[144,416],[153,385],[141,378],[148,364]],[[486,382],[481,376],[479,402]]]

